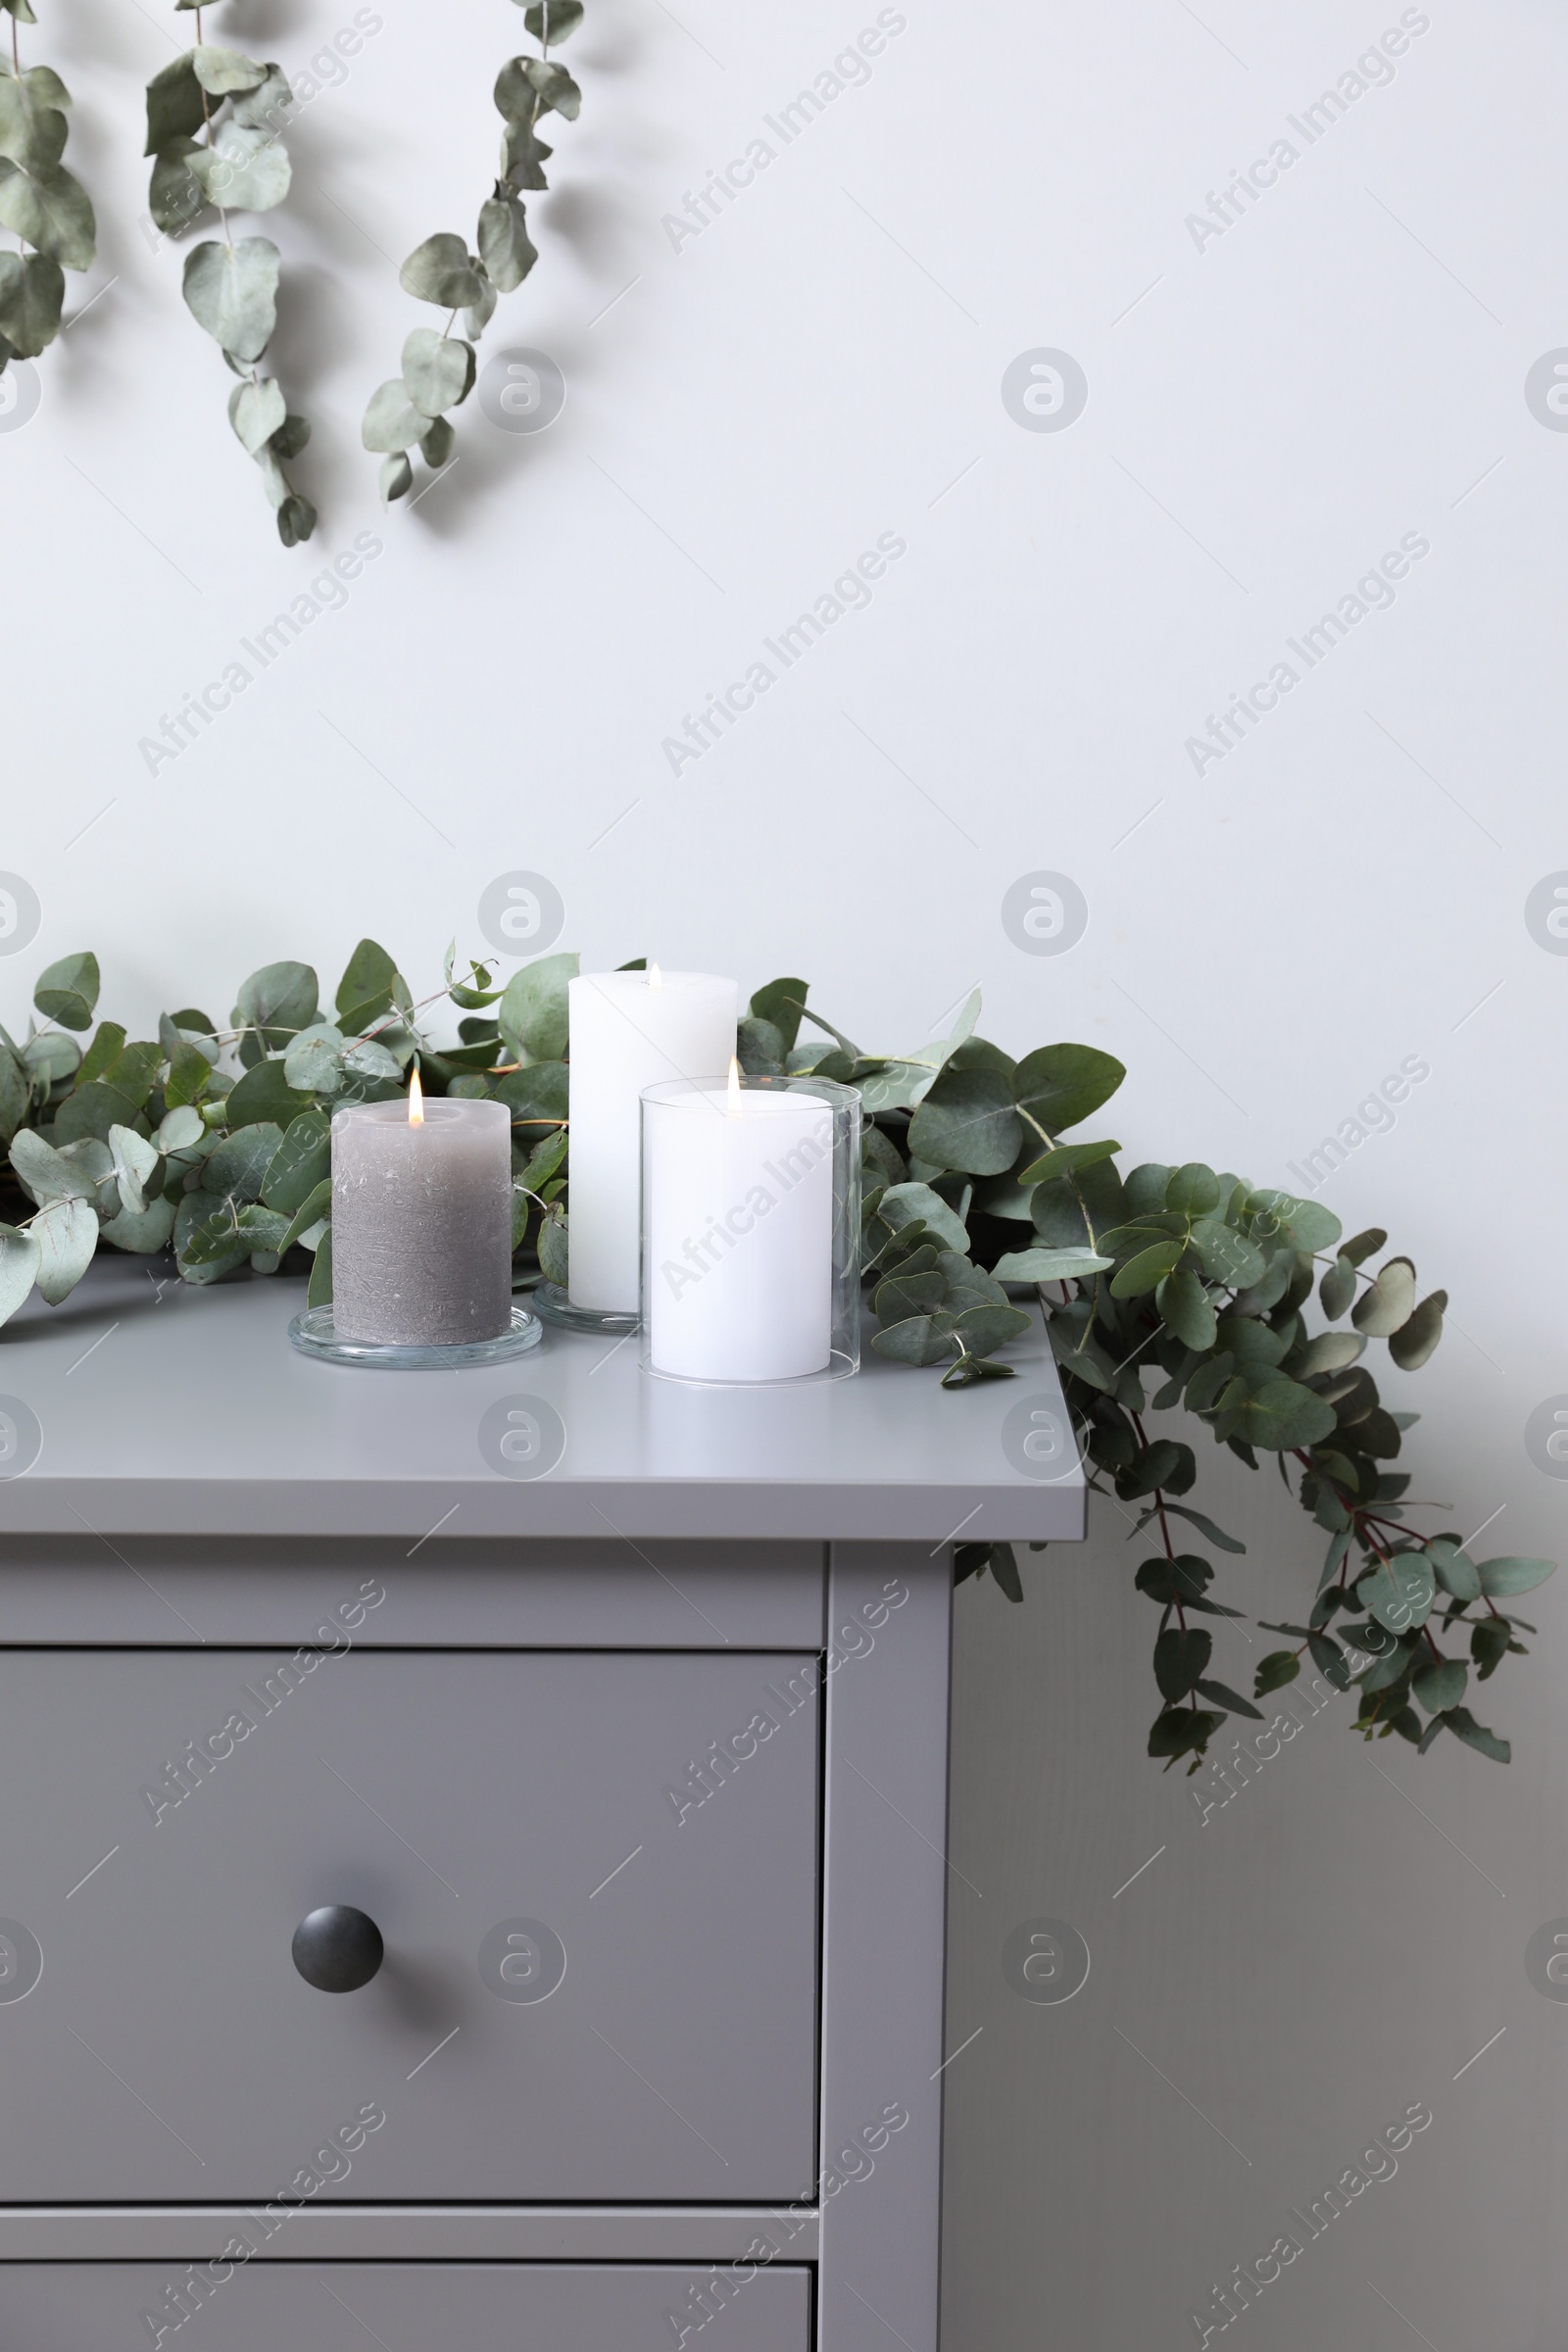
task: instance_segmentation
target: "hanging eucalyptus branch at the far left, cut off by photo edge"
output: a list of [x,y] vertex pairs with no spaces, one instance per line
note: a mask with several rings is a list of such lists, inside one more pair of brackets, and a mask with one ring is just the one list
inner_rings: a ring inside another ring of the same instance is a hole
[[49,66],[21,68],[19,24],[38,24],[28,0],[0,0],[12,19],[12,54],[0,56],[0,226],[21,238],[0,254],[0,372],[35,360],[59,334],[63,270],[89,270],[96,249],[92,198],[71,174],[66,113],[71,92]]

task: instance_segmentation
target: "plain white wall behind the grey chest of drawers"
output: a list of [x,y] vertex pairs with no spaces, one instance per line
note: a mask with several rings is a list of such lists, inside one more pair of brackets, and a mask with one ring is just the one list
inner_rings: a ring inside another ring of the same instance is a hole
[[[487,339],[548,350],[567,409],[538,437],[465,409],[456,473],[383,520],[357,416],[423,320],[376,247],[470,226],[520,19],[378,7],[303,111],[275,216],[275,358],[324,515],[294,555],[179,261],[136,228],[139,85],[190,19],[45,0],[21,33],[75,89],[68,160],[103,221],[87,294],[113,285],[0,433],[0,866],[42,901],[0,1018],[89,943],[139,1018],[223,1014],[277,955],[331,981],[364,929],[433,985],[454,931],[480,946],[484,884],[534,868],[588,964],[804,971],[872,1044],[929,1035],[980,981],[999,1042],[1126,1058],[1135,1155],[1288,1183],[1420,1058],[1399,1124],[1324,1200],[1389,1223],[1453,1294],[1434,1367],[1392,1383],[1429,1416],[1420,1491],[1467,1529],[1507,1505],[1500,1548],[1561,1548],[1563,1489],[1523,1449],[1568,1390],[1568,964],[1526,929],[1568,868],[1568,440],[1523,397],[1568,343],[1561,12],[1432,0],[1394,80],[1307,148],[1286,118],[1396,5],[900,0],[872,78],[792,146],[764,132],[776,160],[677,252],[661,216],[877,7],[590,0],[543,259]],[[228,0],[209,28],[299,71],[350,14]],[[1279,136],[1298,160],[1199,249],[1185,216]],[[999,395],[1041,346],[1088,379],[1060,433]],[[148,774],[160,713],[360,532],[383,553],[348,604]],[[907,553],[870,607],[672,774],[682,715],[884,532]],[[1197,774],[1185,739],[1401,534],[1429,553],[1392,609]],[[1060,957],[1001,927],[1041,868],[1088,906]],[[1248,1538],[1239,1597],[1300,1609],[1312,1548],[1272,1472],[1218,1491]],[[1542,1656],[1481,1693],[1509,1771],[1453,1743],[1361,1750],[1333,1710],[1199,1828],[1180,1773],[1138,1755],[1152,1611],[1121,1538],[1105,1510],[1084,1552],[1030,1562],[1023,1611],[959,1595],[952,2046],[985,2032],[950,2072],[947,2340],[1192,2343],[1208,2281],[1427,2100],[1399,2178],[1244,2340],[1554,2352],[1568,2018],[1523,1945],[1568,1910],[1561,1597],[1537,1597]],[[1044,1915],[1093,1952],[1060,2009],[999,1969]]]

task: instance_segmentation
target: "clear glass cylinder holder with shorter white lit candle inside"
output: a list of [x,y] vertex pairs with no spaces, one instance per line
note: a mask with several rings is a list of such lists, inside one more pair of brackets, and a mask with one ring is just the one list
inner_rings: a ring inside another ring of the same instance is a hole
[[642,1094],[642,1364],[766,1385],[860,1369],[860,1096],[820,1077]]

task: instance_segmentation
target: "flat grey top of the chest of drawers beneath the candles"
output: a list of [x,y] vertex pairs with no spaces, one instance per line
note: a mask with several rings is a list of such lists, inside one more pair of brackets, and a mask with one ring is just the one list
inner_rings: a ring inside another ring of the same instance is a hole
[[193,1289],[103,1254],[0,1329],[7,1534],[1074,1541],[1084,1475],[1044,1324],[966,1390],[870,1345],[853,1378],[693,1388],[637,1338],[369,1371],[289,1345],[303,1284]]

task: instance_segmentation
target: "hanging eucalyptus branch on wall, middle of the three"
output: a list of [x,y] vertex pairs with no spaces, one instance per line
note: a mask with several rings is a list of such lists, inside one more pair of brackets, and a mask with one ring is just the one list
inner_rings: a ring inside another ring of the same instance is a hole
[[221,238],[186,256],[186,308],[240,376],[228,395],[228,421],[261,466],[277,536],[292,548],[315,529],[310,499],[284,473],[310,440],[310,426],[289,414],[277,376],[259,369],[277,327],[282,256],[270,238],[235,240],[228,216],[273,212],[289,193],[292,165],[280,127],[294,92],[282,66],[205,42],[197,0],[174,0],[174,7],[195,9],[195,49],[148,82],[148,209],[165,235],[190,228],[207,209],[219,214]]

